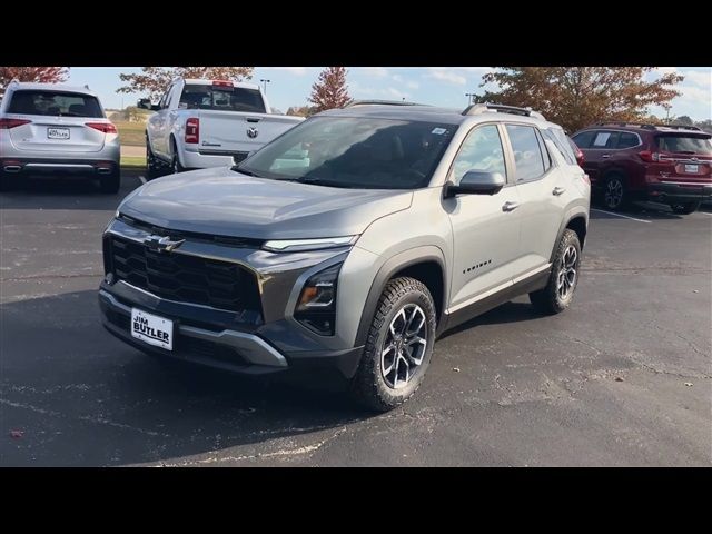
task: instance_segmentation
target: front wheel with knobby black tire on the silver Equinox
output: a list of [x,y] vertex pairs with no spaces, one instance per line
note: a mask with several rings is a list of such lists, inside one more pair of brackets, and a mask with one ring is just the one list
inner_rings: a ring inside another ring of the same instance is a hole
[[[417,330],[411,337],[409,323],[415,320],[421,326],[416,325]],[[429,366],[436,323],[435,304],[423,283],[406,277],[390,280],[378,300],[364,355],[350,385],[354,399],[370,409],[387,412],[411,398]],[[417,343],[413,342],[415,338]],[[392,352],[384,350],[384,345],[393,347]],[[388,359],[392,365],[384,369]],[[392,372],[382,372],[388,368]]]

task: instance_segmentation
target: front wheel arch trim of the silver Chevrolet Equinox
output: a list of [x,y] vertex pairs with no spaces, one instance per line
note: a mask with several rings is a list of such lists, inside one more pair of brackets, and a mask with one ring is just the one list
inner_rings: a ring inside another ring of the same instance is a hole
[[[370,284],[368,296],[366,297],[366,304],[364,305],[364,309],[360,314],[360,322],[358,323],[358,330],[356,330],[356,343],[354,346],[360,347],[366,344],[368,329],[370,328],[370,323],[376,313],[376,306],[378,306],[378,299],[380,298],[383,290],[388,284],[388,280],[393,278],[393,275],[395,275],[399,270],[405,269],[406,267],[423,264],[426,261],[434,261],[441,267],[443,276],[443,297],[441,303],[441,310],[445,310],[448,285],[447,271],[445,270],[445,256],[443,254],[443,250],[433,245],[424,245],[421,247],[409,248],[408,250],[404,250],[390,257],[388,260],[386,260],[385,264],[380,266],[378,273],[376,273],[376,276]],[[441,316],[443,314],[441,313]]]

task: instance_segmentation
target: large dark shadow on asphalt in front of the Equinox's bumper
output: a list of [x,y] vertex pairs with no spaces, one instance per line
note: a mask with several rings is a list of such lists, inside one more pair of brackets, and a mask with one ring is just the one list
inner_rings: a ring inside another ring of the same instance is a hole
[[[374,415],[304,380],[161,364],[102,328],[96,291],[7,303],[0,319],[2,465],[180,464],[238,445],[259,455]],[[16,429],[21,439],[7,437]]]

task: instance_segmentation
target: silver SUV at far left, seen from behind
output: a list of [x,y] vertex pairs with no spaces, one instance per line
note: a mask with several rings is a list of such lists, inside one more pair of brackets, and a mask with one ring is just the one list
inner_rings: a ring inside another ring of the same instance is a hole
[[86,87],[13,80],[0,103],[0,189],[29,175],[97,178],[103,192],[121,185],[116,126]]

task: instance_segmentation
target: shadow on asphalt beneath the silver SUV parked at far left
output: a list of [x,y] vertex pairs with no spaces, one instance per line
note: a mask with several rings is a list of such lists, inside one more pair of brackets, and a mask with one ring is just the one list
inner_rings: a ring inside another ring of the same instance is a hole
[[122,172],[121,189],[116,195],[100,192],[96,180],[32,177],[0,194],[0,208],[113,210],[140,185],[137,171]]

